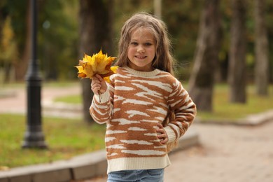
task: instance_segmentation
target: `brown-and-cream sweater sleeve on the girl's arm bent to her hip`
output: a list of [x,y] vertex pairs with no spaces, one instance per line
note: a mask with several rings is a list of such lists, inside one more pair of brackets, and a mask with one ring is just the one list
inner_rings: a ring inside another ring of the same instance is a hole
[[174,112],[174,117],[165,127],[169,142],[179,139],[186,133],[196,116],[196,106],[188,92],[183,88],[179,80],[174,83],[172,94],[169,95],[169,106]]

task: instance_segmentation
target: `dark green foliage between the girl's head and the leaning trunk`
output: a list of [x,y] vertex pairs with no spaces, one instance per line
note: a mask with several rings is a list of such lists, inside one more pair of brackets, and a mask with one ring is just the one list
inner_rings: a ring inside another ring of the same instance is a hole
[[[172,36],[174,55],[179,62],[193,60],[202,1],[162,1],[162,19]],[[187,65],[189,66],[189,65]]]

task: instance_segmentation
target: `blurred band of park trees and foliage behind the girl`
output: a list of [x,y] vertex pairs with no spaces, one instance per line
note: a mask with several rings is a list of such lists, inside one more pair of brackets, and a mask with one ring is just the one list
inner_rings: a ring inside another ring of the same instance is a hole
[[[214,83],[229,83],[231,102],[246,102],[248,83],[267,94],[273,80],[273,2],[263,1],[78,1],[39,0],[38,62],[43,80],[76,80],[78,59],[102,48],[118,51],[120,29],[133,13],[164,20],[177,60],[176,76],[190,80],[200,110],[211,111]],[[0,83],[24,81],[30,57],[29,1],[0,3]],[[196,66],[194,66],[194,63]],[[235,95],[235,96],[232,96]],[[200,100],[200,101],[199,101]]]

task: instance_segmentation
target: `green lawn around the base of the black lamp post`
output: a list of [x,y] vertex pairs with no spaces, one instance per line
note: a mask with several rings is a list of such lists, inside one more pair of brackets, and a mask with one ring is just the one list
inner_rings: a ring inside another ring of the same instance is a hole
[[43,118],[43,134],[48,150],[22,149],[25,116],[0,114],[0,118],[0,169],[66,160],[104,148],[105,125],[90,125],[82,120]]

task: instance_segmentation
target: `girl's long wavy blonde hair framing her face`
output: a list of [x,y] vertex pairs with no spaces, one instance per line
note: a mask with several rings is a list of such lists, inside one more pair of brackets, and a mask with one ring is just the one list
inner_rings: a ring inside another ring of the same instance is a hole
[[153,68],[167,71],[174,75],[174,57],[171,54],[171,43],[167,33],[165,22],[155,18],[148,13],[134,14],[125,22],[120,33],[118,43],[118,61],[116,66],[127,66],[129,59],[127,57],[128,47],[134,31],[139,28],[145,28],[151,31],[155,38],[155,58],[153,59]]

